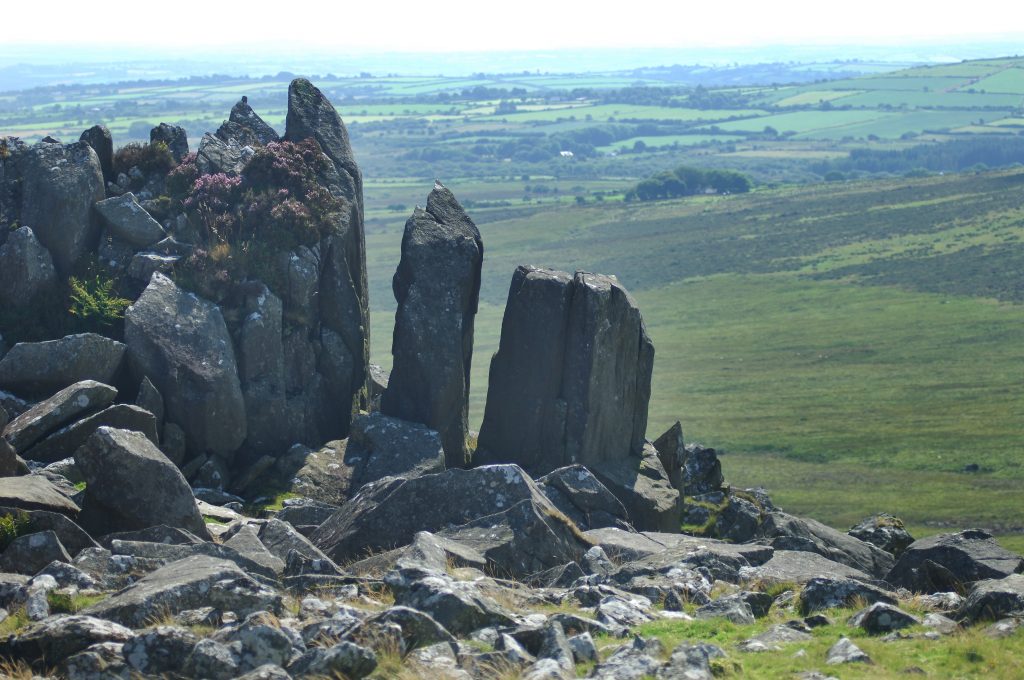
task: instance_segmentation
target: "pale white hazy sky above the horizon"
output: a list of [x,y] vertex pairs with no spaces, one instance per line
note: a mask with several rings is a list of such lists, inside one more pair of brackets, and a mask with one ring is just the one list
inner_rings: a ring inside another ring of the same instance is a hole
[[[81,0],[4,2],[8,44],[474,51],[985,40],[1020,9],[922,0]],[[949,7],[944,9],[943,7]],[[999,19],[1005,20],[999,20]],[[1020,18],[1020,17],[1018,17]]]

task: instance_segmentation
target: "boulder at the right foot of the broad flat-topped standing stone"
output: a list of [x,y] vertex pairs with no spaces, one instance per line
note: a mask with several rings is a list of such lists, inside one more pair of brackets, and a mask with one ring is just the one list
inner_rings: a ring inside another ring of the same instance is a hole
[[639,456],[604,461],[594,474],[622,501],[630,522],[642,532],[679,532],[682,497],[662,467],[657,452],[647,443]]

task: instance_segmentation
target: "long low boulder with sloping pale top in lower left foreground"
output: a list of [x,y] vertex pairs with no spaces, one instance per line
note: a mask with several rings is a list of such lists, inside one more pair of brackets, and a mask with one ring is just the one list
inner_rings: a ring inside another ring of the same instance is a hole
[[279,612],[282,600],[236,564],[196,556],[157,569],[82,613],[140,628],[158,617],[202,606],[244,617],[260,610]]

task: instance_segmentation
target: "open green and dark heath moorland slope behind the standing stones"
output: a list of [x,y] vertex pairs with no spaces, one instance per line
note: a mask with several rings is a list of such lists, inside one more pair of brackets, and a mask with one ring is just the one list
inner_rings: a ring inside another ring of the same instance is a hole
[[[1024,171],[477,218],[474,423],[516,264],[612,272],[656,348],[649,435],[679,419],[731,482],[839,527],[886,510],[1024,548]],[[399,243],[368,233],[384,365]]]

